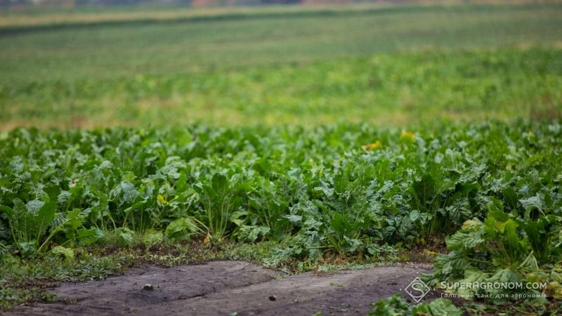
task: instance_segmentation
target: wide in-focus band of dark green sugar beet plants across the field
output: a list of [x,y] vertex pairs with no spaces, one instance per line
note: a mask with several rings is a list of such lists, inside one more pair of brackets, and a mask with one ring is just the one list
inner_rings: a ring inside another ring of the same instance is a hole
[[[314,260],[449,235],[439,277],[497,269],[532,277],[559,267],[555,122],[17,129],[0,143],[3,254],[70,249],[110,231],[125,242],[132,232],[162,231],[171,239],[291,239],[285,255]],[[505,228],[495,232],[497,223]],[[504,241],[506,231],[514,237]]]

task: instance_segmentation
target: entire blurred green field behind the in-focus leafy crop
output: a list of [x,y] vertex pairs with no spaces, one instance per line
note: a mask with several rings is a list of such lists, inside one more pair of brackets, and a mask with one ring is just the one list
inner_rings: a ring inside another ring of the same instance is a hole
[[0,27],[4,130],[549,118],[561,108],[556,4],[287,8],[56,27],[34,16],[32,27]]

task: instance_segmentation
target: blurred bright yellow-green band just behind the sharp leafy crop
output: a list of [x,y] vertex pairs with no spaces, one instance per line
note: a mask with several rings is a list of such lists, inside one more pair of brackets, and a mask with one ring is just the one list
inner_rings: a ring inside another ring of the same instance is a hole
[[0,91],[4,129],[556,118],[562,51],[374,55],[238,71],[35,81]]

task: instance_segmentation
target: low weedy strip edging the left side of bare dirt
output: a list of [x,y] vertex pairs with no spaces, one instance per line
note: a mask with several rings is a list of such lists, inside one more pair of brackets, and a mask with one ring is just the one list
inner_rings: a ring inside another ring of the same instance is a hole
[[46,291],[58,282],[105,279],[143,264],[174,265],[213,260],[244,260],[261,263],[279,246],[277,242],[235,244],[200,240],[145,242],[136,234],[131,244],[123,244],[115,235],[105,235],[96,245],[74,249],[73,260],[48,254],[24,260],[4,256],[0,269],[0,309],[34,301],[52,302],[58,298]]

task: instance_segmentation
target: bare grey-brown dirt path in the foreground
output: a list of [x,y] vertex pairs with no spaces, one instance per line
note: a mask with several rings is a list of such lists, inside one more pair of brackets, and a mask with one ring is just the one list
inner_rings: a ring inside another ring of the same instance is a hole
[[51,291],[74,303],[34,303],[11,315],[364,315],[370,303],[405,294],[426,271],[410,265],[282,277],[239,261],[149,266],[104,281],[60,284]]

